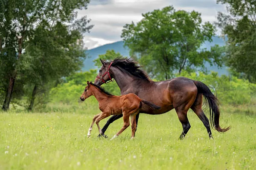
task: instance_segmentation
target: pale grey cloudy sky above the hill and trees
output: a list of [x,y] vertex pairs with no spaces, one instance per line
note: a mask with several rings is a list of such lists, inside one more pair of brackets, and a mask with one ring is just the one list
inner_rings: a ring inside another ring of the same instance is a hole
[[198,11],[203,22],[211,23],[217,20],[218,11],[226,11],[216,0],[91,0],[86,10],[78,11],[78,17],[86,15],[94,25],[89,34],[84,34],[85,47],[120,41],[126,23],[137,23],[143,13],[171,5],[176,10]]

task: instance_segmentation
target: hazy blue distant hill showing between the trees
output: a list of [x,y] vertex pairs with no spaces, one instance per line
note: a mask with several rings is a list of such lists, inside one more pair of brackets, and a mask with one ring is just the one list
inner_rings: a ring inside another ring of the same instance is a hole
[[[225,42],[223,39],[219,37],[212,37],[212,42],[205,42],[201,48],[207,48],[210,49],[211,46],[218,44],[220,46],[225,45]],[[105,54],[107,50],[114,50],[116,52],[119,52],[121,55],[128,57],[129,56],[129,49],[124,48],[124,42],[123,41],[117,41],[113,42],[111,44],[105,44],[102,46],[99,46],[97,48],[93,48],[86,51],[86,54],[89,58],[84,60],[84,67],[82,68],[82,71],[89,71],[90,69],[95,69],[96,66],[93,63],[93,60],[98,58],[100,54]],[[223,67],[219,69],[216,65],[210,66],[208,63],[206,63],[207,70],[209,71],[216,71],[219,75],[225,74],[228,75],[228,71],[226,67]]]

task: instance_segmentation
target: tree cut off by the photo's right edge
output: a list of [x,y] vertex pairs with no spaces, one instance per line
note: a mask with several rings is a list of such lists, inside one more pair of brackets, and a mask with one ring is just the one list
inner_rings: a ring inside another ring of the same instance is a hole
[[217,0],[228,14],[218,12],[217,25],[227,36],[226,65],[256,82],[256,1]]

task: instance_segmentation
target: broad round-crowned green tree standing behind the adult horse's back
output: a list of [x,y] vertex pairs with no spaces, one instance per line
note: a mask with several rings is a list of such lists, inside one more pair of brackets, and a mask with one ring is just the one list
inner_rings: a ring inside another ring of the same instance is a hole
[[218,45],[199,51],[205,41],[212,41],[215,32],[211,23],[202,23],[200,13],[167,6],[142,16],[137,24],[126,24],[121,37],[151,77],[169,79],[183,69],[207,71],[205,62],[221,66],[223,49]]

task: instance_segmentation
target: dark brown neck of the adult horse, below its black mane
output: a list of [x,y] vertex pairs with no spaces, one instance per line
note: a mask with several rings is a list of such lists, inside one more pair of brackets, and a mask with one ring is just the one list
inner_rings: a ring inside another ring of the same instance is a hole
[[[121,71],[119,68],[111,67],[113,78],[116,80],[117,85],[119,86],[121,92],[127,91],[129,88],[137,87],[140,81],[145,81],[143,79],[138,79],[137,77],[126,74],[125,71]],[[147,82],[145,82],[147,83]]]

